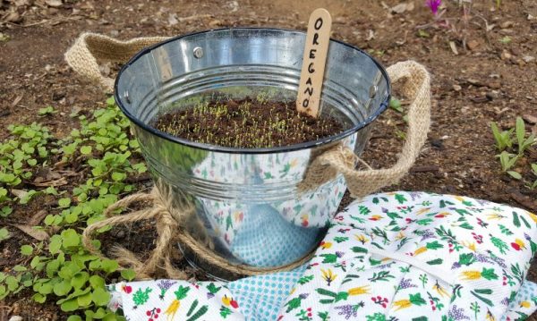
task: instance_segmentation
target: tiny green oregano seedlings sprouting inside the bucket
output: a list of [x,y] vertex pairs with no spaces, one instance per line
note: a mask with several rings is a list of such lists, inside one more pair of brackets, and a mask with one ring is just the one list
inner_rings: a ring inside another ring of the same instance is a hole
[[[183,102],[177,103],[182,107],[175,108],[174,112],[174,108],[168,106],[167,114],[165,114],[166,122],[159,122],[160,119],[164,119],[161,116],[157,118],[154,126],[173,136],[234,148],[281,146],[284,142],[282,139],[275,141],[272,137],[274,133],[288,134],[290,139],[296,141],[305,140],[306,127],[301,118],[303,115],[294,114],[289,109],[281,109],[281,106],[275,106],[270,100],[274,95],[261,92],[253,99],[254,105],[249,100],[244,100],[237,105],[233,99],[227,98],[228,101],[226,101],[226,98],[222,97],[217,102],[204,101],[190,107],[184,106]],[[260,116],[254,108],[267,108],[268,116]],[[300,121],[291,121],[291,118],[296,115]],[[190,121],[186,121],[187,119]],[[197,120],[203,120],[203,123]],[[222,122],[227,124],[229,132],[220,132]],[[328,122],[320,119],[319,128],[328,131],[330,127]],[[230,137],[235,132],[241,132],[241,134]]]

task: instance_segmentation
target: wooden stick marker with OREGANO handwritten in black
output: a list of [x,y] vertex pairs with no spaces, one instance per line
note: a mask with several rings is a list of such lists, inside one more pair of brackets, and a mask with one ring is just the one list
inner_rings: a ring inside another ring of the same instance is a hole
[[311,13],[296,97],[296,110],[313,117],[319,114],[320,92],[327,62],[331,27],[332,17],[326,9],[315,9]]

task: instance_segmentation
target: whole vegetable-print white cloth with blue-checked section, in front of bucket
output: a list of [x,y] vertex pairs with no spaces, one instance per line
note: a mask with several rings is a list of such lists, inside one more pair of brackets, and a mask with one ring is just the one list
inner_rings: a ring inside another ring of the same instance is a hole
[[521,209],[376,194],[336,215],[302,269],[227,284],[119,283],[110,304],[147,321],[518,320],[536,308],[524,282],[536,239],[535,216]]

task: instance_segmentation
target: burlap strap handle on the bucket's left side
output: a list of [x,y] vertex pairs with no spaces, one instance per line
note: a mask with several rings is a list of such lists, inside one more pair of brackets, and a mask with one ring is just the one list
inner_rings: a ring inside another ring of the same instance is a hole
[[82,33],[65,53],[65,61],[71,68],[108,93],[114,91],[114,80],[103,76],[98,60],[125,63],[143,47],[166,40],[166,37],[133,38],[117,40],[97,33]]

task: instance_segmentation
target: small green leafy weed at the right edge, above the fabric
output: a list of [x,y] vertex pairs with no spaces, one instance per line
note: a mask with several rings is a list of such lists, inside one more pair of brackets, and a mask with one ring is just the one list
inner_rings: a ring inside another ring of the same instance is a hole
[[518,161],[524,157],[524,153],[537,143],[534,134],[526,135],[524,120],[516,117],[515,128],[507,131],[500,131],[496,122],[490,123],[492,136],[496,140],[496,148],[499,150],[499,164],[501,170],[507,173],[516,180],[524,181],[524,184],[530,188],[537,188],[537,163],[530,164],[530,172],[533,174],[533,180],[526,181],[519,171],[514,171],[513,168]]

